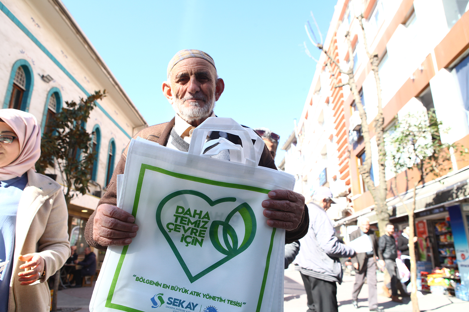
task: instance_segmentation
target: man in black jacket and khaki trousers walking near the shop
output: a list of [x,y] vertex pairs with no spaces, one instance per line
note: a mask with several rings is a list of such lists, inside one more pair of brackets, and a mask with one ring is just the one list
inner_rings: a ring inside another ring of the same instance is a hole
[[402,289],[399,271],[397,269],[397,247],[396,240],[393,237],[394,225],[386,224],[385,235],[381,236],[378,241],[378,256],[381,266],[386,266],[386,270],[391,276],[391,282],[383,286],[385,293],[391,289],[391,300],[394,302],[402,302],[398,297],[398,288],[402,297],[408,297],[408,294]]

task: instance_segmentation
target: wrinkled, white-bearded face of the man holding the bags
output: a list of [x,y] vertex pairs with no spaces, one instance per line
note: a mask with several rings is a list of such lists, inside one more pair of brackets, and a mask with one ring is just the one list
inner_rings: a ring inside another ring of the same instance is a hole
[[163,82],[163,94],[188,123],[209,117],[224,88],[215,68],[203,58],[183,59],[174,65],[169,80]]

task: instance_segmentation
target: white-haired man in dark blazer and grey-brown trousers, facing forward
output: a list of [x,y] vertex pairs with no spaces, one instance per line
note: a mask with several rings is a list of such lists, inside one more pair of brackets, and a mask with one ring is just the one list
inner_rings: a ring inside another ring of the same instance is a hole
[[350,240],[367,235],[370,239],[373,250],[366,253],[358,253],[352,258],[355,268],[355,284],[353,285],[352,304],[358,308],[358,294],[362,290],[365,277],[368,284],[368,306],[370,311],[383,312],[378,308],[378,293],[376,290],[376,258],[378,257],[378,239],[375,232],[370,230],[370,219],[366,217],[358,218],[358,229],[350,233]]

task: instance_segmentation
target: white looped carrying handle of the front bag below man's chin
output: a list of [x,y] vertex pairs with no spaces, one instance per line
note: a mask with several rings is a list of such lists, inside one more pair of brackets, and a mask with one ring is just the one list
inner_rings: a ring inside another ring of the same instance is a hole
[[[234,121],[233,118],[227,117],[208,117],[192,132],[192,138],[189,145],[189,154],[200,155],[203,152],[205,139],[209,131],[222,131],[237,135],[241,138],[242,152],[246,160],[246,166],[256,167],[259,163],[264,150],[264,140],[257,135],[254,130],[245,128],[241,124]],[[252,141],[256,140],[254,144]],[[234,149],[225,148],[225,149]],[[237,157],[236,157],[237,158]]]

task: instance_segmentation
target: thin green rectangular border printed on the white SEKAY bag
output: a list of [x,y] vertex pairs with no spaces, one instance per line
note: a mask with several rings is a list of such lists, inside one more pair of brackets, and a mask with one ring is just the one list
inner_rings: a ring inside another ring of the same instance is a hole
[[[138,175],[138,183],[137,183],[137,189],[136,189],[136,192],[135,192],[134,207],[132,209],[132,215],[134,217],[136,217],[136,214],[137,214],[138,202],[140,200],[140,192],[142,191],[142,184],[143,184],[143,180],[144,180],[144,175],[145,175],[145,171],[147,169],[152,170],[152,171],[156,171],[156,172],[159,172],[159,173],[162,173],[162,174],[167,174],[167,175],[173,176],[175,178],[179,178],[179,179],[195,181],[195,182],[210,184],[210,185],[217,185],[217,186],[222,186],[222,187],[225,187],[225,188],[245,189],[245,190],[264,193],[264,194],[268,194],[270,192],[270,190],[268,190],[268,189],[256,188],[256,187],[249,186],[249,185],[242,185],[242,184],[234,184],[234,183],[227,183],[227,182],[208,180],[208,179],[203,179],[203,178],[199,178],[199,177],[195,177],[195,176],[191,176],[191,175],[187,175],[187,174],[178,174],[178,173],[175,173],[175,172],[165,170],[163,168],[154,167],[154,166],[150,166],[150,165],[147,165],[147,164],[142,164],[142,166],[140,167],[140,174]],[[267,275],[269,273],[269,265],[270,265],[270,257],[271,257],[272,249],[273,249],[273,238],[275,236],[276,230],[277,230],[276,228],[272,229],[272,235],[271,235],[271,239],[270,239],[269,251],[267,252],[267,258],[265,260],[264,278],[262,279],[262,285],[261,285],[261,290],[260,290],[260,293],[259,293],[259,300],[257,301],[256,312],[260,311],[261,305],[262,305],[262,298],[264,297],[265,283],[267,282]],[[114,304],[114,303],[111,302],[111,300],[113,298],[113,295],[114,295],[114,290],[115,290],[115,287],[116,287],[116,284],[117,284],[117,279],[119,278],[119,274],[121,273],[122,264],[124,262],[124,258],[125,258],[125,255],[127,254],[128,249],[129,249],[129,245],[124,246],[122,248],[121,257],[119,258],[119,262],[117,263],[117,267],[116,267],[116,270],[114,272],[113,281],[111,283],[111,288],[109,288],[109,293],[107,295],[106,305],[105,306],[106,306],[106,308],[112,308],[112,309],[127,311],[127,312],[144,312],[144,311],[141,311],[141,310],[130,308],[128,306],[117,305],[117,304]]]

